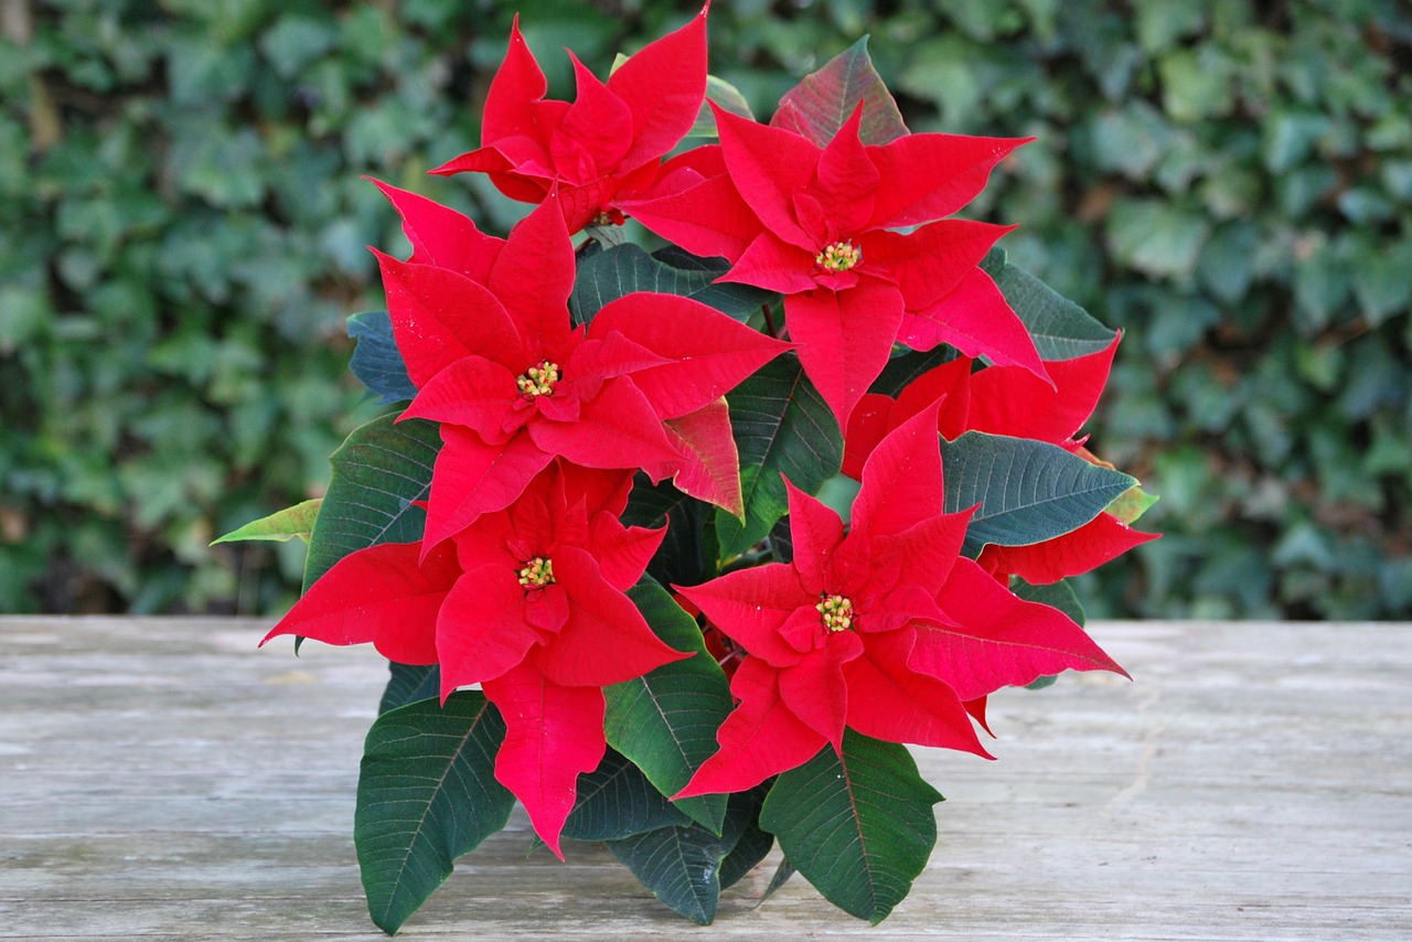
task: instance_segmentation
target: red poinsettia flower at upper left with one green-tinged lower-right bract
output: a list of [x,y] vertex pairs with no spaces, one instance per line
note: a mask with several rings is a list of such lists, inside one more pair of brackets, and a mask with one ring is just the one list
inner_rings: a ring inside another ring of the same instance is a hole
[[696,301],[648,292],[572,328],[573,244],[554,196],[501,242],[445,206],[381,186],[415,247],[408,263],[377,253],[397,345],[419,388],[404,418],[442,424],[426,548],[508,506],[555,455],[675,476],[685,493],[740,513],[722,397],[788,343]]

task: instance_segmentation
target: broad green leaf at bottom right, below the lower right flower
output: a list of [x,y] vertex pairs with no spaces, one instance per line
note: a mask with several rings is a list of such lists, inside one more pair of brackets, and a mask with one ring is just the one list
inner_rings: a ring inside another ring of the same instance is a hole
[[939,801],[905,746],[847,730],[842,757],[826,746],[779,775],[760,826],[829,902],[877,925],[926,866]]

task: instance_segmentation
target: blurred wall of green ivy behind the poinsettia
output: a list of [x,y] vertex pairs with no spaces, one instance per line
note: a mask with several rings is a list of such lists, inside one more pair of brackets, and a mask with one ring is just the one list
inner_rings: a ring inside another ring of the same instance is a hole
[[[695,3],[524,3],[569,92]],[[400,247],[376,174],[465,178],[490,0],[0,0],[0,612],[267,613],[376,414],[347,314]],[[1399,0],[717,0],[760,117],[863,34],[915,131],[1035,136],[969,215],[1124,328],[1091,446],[1166,534],[1090,614],[1412,617],[1412,8]]]

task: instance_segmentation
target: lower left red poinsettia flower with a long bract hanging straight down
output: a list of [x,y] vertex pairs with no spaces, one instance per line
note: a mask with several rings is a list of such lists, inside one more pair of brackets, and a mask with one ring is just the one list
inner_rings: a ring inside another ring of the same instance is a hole
[[345,556],[265,641],[371,641],[394,661],[439,664],[442,699],[480,684],[507,726],[496,778],[559,854],[576,780],[607,746],[603,686],[689,657],[624,595],[664,534],[618,523],[630,489],[631,475],[556,462],[425,559],[418,544]]

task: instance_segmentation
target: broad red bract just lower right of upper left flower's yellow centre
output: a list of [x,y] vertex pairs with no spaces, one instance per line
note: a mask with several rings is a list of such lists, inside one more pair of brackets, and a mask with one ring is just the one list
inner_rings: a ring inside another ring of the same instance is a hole
[[528,432],[538,448],[585,467],[641,467],[661,479],[681,463],[662,419],[627,377],[604,383],[578,422],[531,422]]

